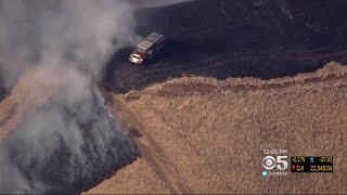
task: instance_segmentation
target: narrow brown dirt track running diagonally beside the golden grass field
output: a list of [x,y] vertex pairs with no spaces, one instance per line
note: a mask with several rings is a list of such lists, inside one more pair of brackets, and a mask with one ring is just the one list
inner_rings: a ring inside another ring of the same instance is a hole
[[105,93],[107,104],[123,126],[129,130],[133,142],[141,150],[143,157],[153,166],[158,176],[164,180],[169,190],[175,194],[192,194],[178,169],[169,160],[167,154],[149,133],[147,128],[137,118],[121,100],[111,93]]

